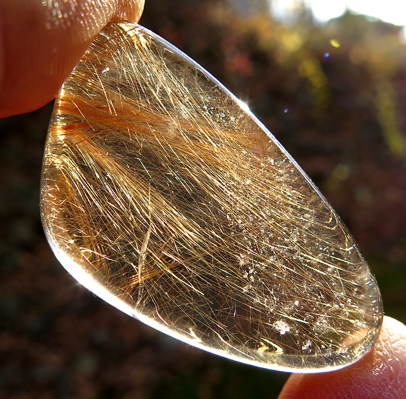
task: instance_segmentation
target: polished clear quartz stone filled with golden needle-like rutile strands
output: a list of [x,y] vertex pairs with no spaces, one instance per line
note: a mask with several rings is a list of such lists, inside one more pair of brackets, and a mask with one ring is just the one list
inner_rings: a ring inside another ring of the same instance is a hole
[[221,83],[137,24],[107,26],[60,89],[41,211],[73,277],[193,346],[310,373],[377,339],[375,278],[309,177]]

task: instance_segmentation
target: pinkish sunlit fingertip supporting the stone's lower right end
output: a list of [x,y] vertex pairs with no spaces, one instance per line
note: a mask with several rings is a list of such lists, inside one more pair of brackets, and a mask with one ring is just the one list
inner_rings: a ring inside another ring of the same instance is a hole
[[292,374],[278,399],[403,399],[406,397],[406,326],[390,317],[377,343],[357,363],[331,373]]

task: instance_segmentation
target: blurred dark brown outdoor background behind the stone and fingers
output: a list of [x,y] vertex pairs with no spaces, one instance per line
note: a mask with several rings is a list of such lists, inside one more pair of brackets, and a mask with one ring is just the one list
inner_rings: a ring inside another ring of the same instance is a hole
[[[406,6],[365,3],[147,0],[140,23],[249,104],[355,236],[385,313],[405,323]],[[0,396],[276,398],[287,374],[155,332],[58,264],[39,213],[51,112],[0,120]]]

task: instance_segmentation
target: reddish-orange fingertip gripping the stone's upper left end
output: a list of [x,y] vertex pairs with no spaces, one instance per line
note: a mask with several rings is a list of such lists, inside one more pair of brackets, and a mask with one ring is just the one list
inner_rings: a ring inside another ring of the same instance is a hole
[[0,2],[0,117],[52,100],[111,20],[138,21],[144,0]]

